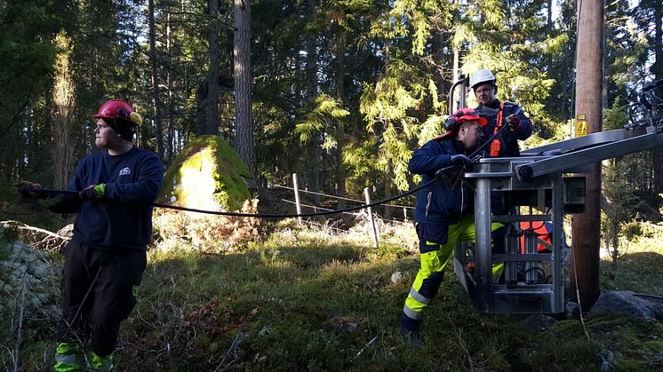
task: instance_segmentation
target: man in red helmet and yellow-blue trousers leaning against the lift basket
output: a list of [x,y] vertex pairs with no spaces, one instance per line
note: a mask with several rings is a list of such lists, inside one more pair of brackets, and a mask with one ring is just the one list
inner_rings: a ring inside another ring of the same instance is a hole
[[[471,108],[461,108],[444,123],[446,132],[429,140],[412,154],[409,170],[422,176],[422,184],[435,172],[451,165],[470,166],[467,156],[483,140],[486,119]],[[400,330],[408,344],[420,344],[421,314],[437,294],[444,267],[456,241],[474,241],[474,194],[463,178],[437,181],[419,191],[414,213],[421,266],[401,314]]]

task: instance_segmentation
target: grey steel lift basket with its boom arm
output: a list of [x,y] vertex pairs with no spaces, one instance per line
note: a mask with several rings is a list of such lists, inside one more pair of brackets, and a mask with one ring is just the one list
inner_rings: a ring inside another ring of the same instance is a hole
[[[663,146],[663,132],[660,127],[651,126],[593,133],[526,150],[521,157],[487,158],[475,164],[475,171],[463,176],[475,180],[475,272],[467,271],[467,249],[464,244],[456,245],[453,262],[454,272],[476,307],[485,313],[563,312],[564,173],[588,172],[592,163],[659,146]],[[553,148],[562,149],[566,154],[540,155]],[[498,191],[511,195],[534,195],[526,202],[516,201],[512,205],[529,206],[530,210],[545,213],[493,215],[491,193]],[[525,239],[526,251],[523,254],[520,239],[507,236],[507,252],[493,254],[491,223],[508,225],[519,221],[551,221],[552,253],[539,254],[536,241],[528,238],[530,240]],[[552,263],[552,281],[549,283],[531,281],[526,274],[523,281],[515,280],[518,263],[536,268],[546,261]],[[502,273],[504,283],[492,278],[491,267],[499,263],[505,264]]]

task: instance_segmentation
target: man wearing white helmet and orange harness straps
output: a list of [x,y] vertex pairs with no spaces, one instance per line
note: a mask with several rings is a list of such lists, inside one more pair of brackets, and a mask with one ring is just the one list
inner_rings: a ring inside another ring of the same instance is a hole
[[495,98],[497,84],[495,75],[491,70],[482,68],[477,70],[469,79],[469,85],[475,92],[479,101],[476,111],[488,119],[483,127],[483,137],[490,139],[503,125],[508,125],[509,131],[502,131],[491,141],[486,148],[485,157],[520,156],[518,139],[528,139],[531,136],[531,122],[523,114],[521,107],[513,102],[502,102]]

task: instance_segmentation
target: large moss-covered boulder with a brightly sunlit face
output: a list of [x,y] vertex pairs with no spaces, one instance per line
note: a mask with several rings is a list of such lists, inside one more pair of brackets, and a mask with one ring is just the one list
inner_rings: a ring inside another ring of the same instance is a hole
[[201,210],[240,210],[251,193],[251,172],[219,136],[188,142],[164,176],[162,197],[174,205]]

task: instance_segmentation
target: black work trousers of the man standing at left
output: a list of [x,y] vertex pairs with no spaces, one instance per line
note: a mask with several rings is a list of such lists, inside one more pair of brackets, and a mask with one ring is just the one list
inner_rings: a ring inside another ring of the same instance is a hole
[[85,344],[105,357],[115,350],[120,322],[136,305],[147,265],[145,250],[96,249],[78,241],[65,247],[59,343]]

